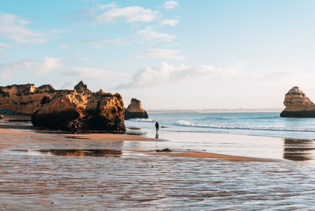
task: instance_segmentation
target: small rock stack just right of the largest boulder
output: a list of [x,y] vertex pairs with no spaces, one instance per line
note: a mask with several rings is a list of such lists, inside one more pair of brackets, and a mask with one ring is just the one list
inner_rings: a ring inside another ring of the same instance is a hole
[[147,119],[149,117],[146,111],[141,107],[141,101],[132,98],[130,104],[125,109],[125,120],[136,118]]

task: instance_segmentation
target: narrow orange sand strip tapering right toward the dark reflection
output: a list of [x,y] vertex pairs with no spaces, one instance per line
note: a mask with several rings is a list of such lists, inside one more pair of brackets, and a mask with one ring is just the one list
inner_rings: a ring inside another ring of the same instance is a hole
[[123,150],[123,151],[144,152],[149,155],[164,155],[164,156],[171,156],[171,157],[216,158],[216,159],[228,159],[232,161],[284,162],[284,160],[280,160],[280,159],[253,158],[253,157],[243,157],[243,156],[215,154],[215,153],[206,153],[206,152],[191,152],[191,151],[152,152],[150,150]]

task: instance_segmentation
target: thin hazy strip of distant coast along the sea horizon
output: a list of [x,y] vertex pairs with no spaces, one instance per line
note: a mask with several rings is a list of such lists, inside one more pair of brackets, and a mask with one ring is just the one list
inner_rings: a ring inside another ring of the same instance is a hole
[[236,109],[197,109],[197,110],[180,110],[180,109],[161,109],[147,110],[148,113],[218,113],[218,112],[282,112],[284,108],[236,108]]

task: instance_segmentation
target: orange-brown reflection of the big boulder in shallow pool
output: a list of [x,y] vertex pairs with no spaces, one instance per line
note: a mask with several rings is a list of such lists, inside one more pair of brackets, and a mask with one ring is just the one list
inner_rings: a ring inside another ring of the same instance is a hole
[[121,150],[111,149],[39,149],[39,150],[25,150],[12,149],[10,150],[16,154],[28,155],[57,155],[57,156],[106,156],[106,157],[120,157],[123,155]]

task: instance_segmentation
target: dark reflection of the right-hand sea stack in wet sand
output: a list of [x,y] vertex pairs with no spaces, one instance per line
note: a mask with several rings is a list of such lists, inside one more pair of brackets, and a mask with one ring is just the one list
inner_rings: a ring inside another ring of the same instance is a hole
[[314,160],[315,143],[307,139],[284,139],[283,158],[294,161]]

